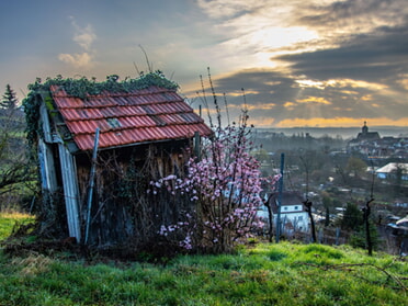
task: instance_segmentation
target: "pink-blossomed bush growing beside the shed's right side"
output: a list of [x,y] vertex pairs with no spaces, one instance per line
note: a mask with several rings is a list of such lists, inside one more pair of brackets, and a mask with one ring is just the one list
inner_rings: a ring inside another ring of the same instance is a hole
[[263,204],[261,184],[273,186],[279,179],[261,178],[260,165],[250,155],[253,144],[247,111],[238,124],[218,126],[202,146],[201,158],[192,156],[183,178],[169,175],[151,182],[154,193],[167,189],[173,199],[191,205],[177,224],[163,224],[160,235],[179,246],[205,252],[229,252],[264,224],[257,216]]

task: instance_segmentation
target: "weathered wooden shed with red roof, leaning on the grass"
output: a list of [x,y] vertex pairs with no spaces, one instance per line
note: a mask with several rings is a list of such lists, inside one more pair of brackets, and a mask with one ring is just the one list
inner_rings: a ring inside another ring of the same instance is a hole
[[193,137],[212,129],[173,87],[75,95],[67,83],[48,83],[31,95],[39,118],[43,223],[99,247],[154,239],[185,203],[170,193],[154,196],[151,182],[184,173]]

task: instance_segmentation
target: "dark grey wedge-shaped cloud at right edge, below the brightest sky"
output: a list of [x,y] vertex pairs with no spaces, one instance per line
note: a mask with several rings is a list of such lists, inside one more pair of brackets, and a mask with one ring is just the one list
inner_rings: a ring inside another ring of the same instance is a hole
[[291,64],[298,75],[314,79],[350,78],[379,82],[407,71],[407,27],[382,27],[354,35],[337,48],[284,55],[274,59]]

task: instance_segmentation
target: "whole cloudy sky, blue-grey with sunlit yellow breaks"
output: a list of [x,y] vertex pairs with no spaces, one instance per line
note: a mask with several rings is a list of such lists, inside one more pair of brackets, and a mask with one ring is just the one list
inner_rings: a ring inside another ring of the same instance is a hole
[[144,49],[195,109],[209,67],[257,127],[408,127],[406,0],[14,0],[0,23],[0,92],[20,100],[37,77],[137,77]]

